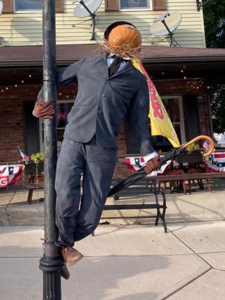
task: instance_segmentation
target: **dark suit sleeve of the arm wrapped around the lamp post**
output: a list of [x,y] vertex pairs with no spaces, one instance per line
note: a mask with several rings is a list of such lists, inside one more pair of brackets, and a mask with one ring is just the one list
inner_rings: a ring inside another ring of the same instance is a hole
[[[56,74],[56,85],[57,88],[60,85],[67,85],[69,83],[77,83],[77,74],[79,69],[81,68],[81,65],[83,65],[83,62],[86,58],[83,58],[79,60],[76,63],[73,63],[72,65],[69,65],[68,67],[58,69]],[[38,100],[43,99],[43,87],[38,92]]]

